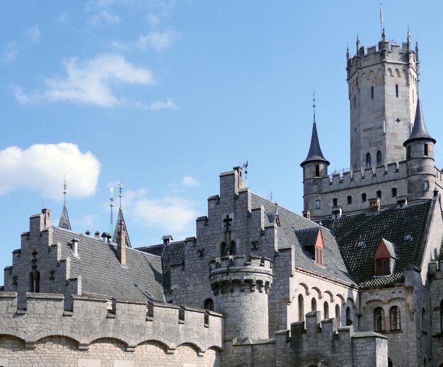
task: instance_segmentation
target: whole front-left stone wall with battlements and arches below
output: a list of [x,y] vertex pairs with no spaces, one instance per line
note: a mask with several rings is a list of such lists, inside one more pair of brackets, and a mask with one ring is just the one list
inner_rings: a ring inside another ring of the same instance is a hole
[[28,293],[26,310],[18,310],[16,293],[0,293],[1,366],[219,366],[216,312],[73,298],[66,311],[63,295]]

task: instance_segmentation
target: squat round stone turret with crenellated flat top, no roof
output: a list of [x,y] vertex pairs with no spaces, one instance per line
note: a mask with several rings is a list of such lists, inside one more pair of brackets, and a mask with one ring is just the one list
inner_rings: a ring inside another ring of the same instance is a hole
[[267,291],[272,261],[262,256],[224,256],[209,263],[215,310],[225,317],[226,340],[267,339]]

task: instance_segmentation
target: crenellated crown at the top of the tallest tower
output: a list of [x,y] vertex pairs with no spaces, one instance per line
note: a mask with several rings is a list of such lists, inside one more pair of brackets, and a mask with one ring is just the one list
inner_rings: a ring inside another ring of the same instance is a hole
[[347,60],[348,79],[362,67],[386,61],[392,63],[409,64],[413,67],[418,64],[418,55],[410,49],[410,43],[403,42],[402,45],[380,41],[378,45],[370,47],[359,46],[356,55]]

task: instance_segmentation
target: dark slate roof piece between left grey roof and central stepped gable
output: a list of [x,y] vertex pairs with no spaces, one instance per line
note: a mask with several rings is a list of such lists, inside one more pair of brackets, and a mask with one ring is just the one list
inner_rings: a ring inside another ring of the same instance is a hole
[[139,247],[138,250],[161,256],[165,300],[166,302],[171,303],[171,264],[185,260],[185,242],[177,241],[170,242],[169,244],[155,244],[154,246]]

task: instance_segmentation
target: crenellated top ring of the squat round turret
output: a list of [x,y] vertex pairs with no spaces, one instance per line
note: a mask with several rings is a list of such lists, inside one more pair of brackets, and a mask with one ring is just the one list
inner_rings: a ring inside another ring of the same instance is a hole
[[261,293],[272,284],[272,261],[263,256],[230,255],[209,262],[209,280],[215,295],[220,292],[233,292],[234,289]]

